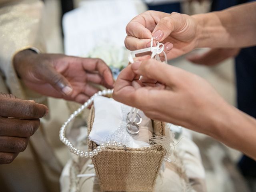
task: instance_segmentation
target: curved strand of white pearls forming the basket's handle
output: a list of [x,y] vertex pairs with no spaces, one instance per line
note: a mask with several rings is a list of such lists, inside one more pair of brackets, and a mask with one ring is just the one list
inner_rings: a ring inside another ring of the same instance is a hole
[[110,95],[113,93],[113,89],[108,89],[108,90],[103,90],[99,91],[98,93],[94,94],[87,102],[85,102],[78,110],[76,110],[73,114],[70,115],[68,120],[62,125],[60,128],[60,140],[62,143],[64,143],[66,146],[68,146],[68,149],[70,152],[76,154],[79,157],[85,157],[85,158],[92,158],[93,156],[97,155],[99,152],[104,150],[106,147],[124,147],[126,149],[126,146],[124,146],[121,142],[116,142],[116,141],[108,141],[106,143],[100,144],[100,146],[97,146],[96,149],[87,152],[87,151],[82,151],[79,150],[78,148],[74,147],[74,145],[66,138],[65,133],[66,133],[66,128],[68,124],[76,118],[79,114],[82,113],[82,111],[90,106],[93,103],[94,97],[95,96],[105,96],[105,95]]

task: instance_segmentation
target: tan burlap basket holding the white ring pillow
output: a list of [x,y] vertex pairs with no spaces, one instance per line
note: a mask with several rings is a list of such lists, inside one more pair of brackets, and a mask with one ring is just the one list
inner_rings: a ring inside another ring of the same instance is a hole
[[[94,121],[90,110],[88,134]],[[164,123],[153,121],[154,135],[164,136]],[[97,144],[88,140],[89,151]],[[103,192],[152,192],[164,158],[162,147],[106,148],[92,158]]]

